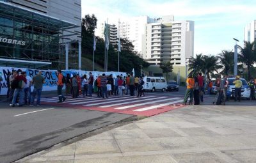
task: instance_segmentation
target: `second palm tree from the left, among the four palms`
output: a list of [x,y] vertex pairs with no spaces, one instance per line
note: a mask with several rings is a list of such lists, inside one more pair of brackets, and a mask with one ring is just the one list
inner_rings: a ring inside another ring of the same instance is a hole
[[221,68],[218,65],[218,58],[216,56],[203,56],[204,65],[202,65],[202,72],[206,72],[207,78],[210,79],[210,74],[213,72],[218,73],[218,69]]

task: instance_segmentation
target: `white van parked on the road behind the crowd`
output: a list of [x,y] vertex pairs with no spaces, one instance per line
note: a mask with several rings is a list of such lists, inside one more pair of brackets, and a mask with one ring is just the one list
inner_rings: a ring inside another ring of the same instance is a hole
[[143,78],[144,85],[143,89],[146,91],[156,91],[156,90],[167,90],[167,82],[164,77],[147,77]]

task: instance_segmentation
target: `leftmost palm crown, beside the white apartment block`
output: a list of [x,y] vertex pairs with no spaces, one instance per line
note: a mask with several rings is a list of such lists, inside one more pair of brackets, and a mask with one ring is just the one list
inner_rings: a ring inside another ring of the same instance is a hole
[[204,55],[203,54],[196,54],[196,57],[193,58],[191,57],[189,59],[189,68],[188,70],[191,71],[191,74],[198,74],[198,72],[200,72],[204,66]]

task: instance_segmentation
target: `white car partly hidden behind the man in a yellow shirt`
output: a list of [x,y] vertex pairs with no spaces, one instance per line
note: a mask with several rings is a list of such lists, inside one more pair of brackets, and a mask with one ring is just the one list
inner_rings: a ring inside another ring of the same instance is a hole
[[[235,84],[233,84],[233,82],[236,80],[235,77],[229,77],[228,78],[228,89],[230,92],[232,92],[231,97],[235,97]],[[246,82],[245,79],[240,78],[240,80],[243,82],[243,86],[241,89],[241,97],[242,98],[246,98],[246,99],[250,99],[250,95],[251,95],[251,89],[250,86],[248,86],[248,83]]]

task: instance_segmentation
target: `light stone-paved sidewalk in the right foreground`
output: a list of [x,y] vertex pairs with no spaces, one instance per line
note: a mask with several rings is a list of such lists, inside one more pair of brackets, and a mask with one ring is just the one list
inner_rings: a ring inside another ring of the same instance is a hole
[[255,162],[255,116],[255,105],[191,105],[17,162]]

